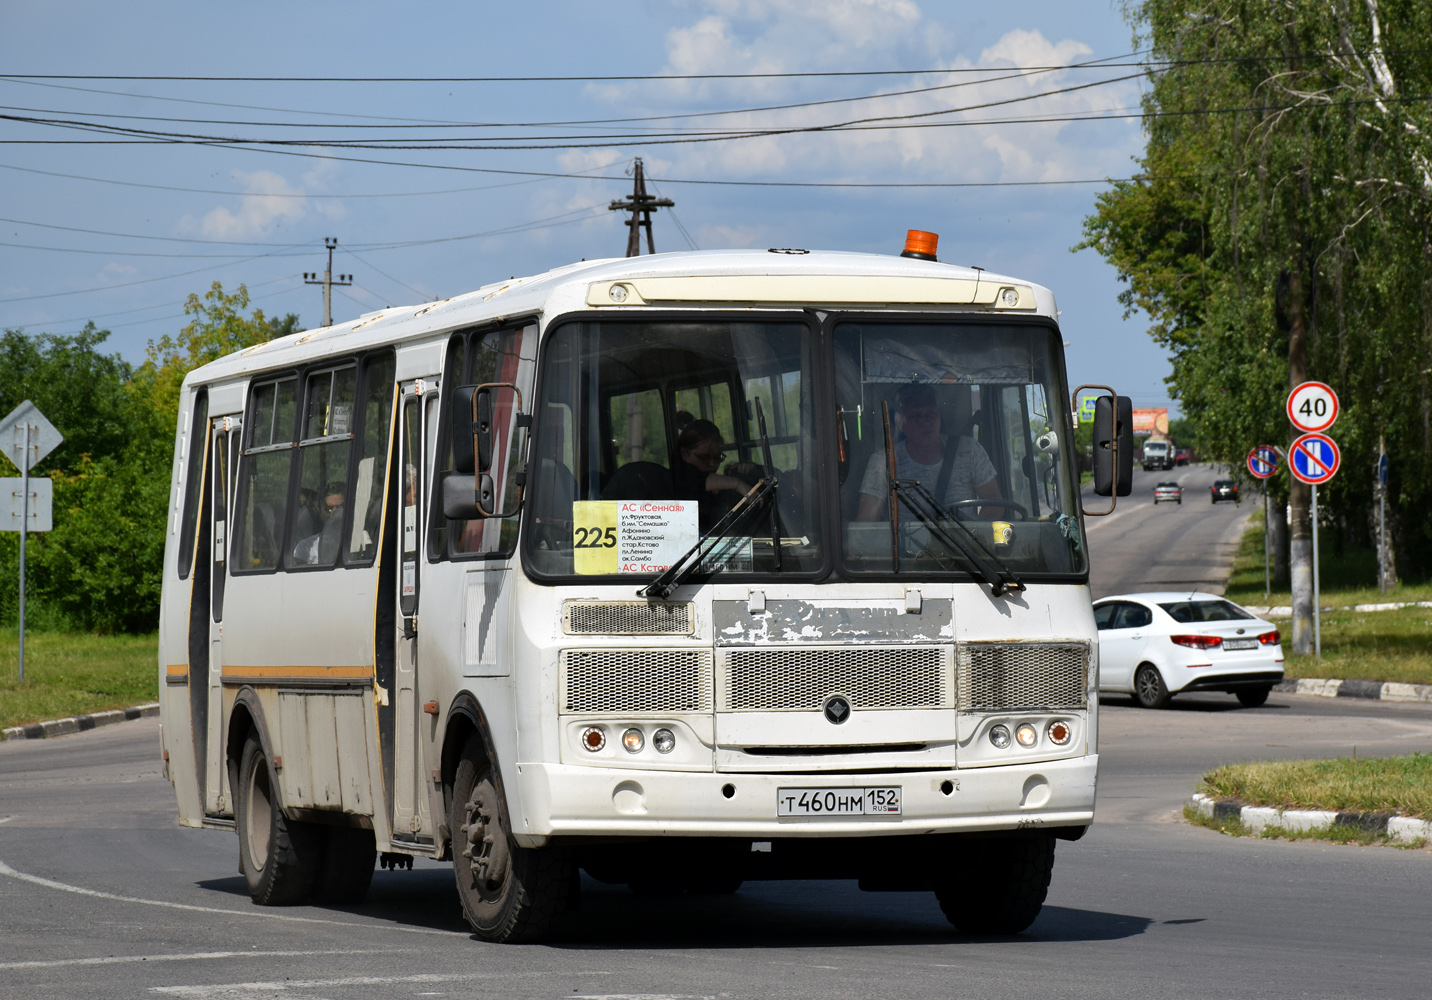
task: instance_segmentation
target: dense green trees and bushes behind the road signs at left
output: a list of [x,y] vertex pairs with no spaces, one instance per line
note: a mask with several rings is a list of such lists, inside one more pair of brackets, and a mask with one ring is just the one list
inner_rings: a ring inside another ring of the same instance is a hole
[[[233,351],[296,332],[298,317],[251,315],[248,291],[215,282],[190,295],[176,337],[132,368],[102,354],[107,331],[6,331],[0,407],[30,398],[64,434],[37,470],[54,486],[54,529],[27,542],[26,617],[37,628],[146,632],[159,620],[170,448],[185,375]],[[0,620],[14,622],[19,537],[0,534]]]

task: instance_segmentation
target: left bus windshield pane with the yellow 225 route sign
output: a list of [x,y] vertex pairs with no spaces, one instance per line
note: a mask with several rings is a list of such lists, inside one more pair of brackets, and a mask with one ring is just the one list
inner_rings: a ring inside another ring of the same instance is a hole
[[543,355],[527,564],[647,580],[766,474],[775,503],[722,533],[696,577],[822,564],[809,322],[579,321]]

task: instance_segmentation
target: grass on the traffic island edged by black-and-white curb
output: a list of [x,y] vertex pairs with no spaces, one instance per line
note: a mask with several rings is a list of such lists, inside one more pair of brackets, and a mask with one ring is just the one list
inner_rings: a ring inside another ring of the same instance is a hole
[[1276,809],[1395,812],[1432,818],[1432,754],[1224,764],[1199,791]]

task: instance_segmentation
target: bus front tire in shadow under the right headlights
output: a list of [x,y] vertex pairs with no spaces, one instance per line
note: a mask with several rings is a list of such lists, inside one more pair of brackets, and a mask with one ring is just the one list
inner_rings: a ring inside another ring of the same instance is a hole
[[969,872],[935,887],[945,918],[965,934],[1018,934],[1044,908],[1054,871],[1054,838],[1047,835],[974,841]]

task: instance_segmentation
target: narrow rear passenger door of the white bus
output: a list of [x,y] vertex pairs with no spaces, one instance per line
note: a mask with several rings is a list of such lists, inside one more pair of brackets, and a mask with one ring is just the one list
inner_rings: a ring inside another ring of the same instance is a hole
[[[211,815],[233,812],[229,774],[223,766],[223,583],[228,579],[229,517],[233,513],[232,454],[238,444],[239,418],[213,421],[209,446],[209,682],[208,682],[208,752],[205,754],[203,809]],[[203,572],[203,570],[199,570]]]

